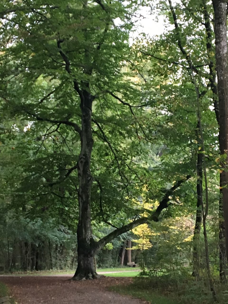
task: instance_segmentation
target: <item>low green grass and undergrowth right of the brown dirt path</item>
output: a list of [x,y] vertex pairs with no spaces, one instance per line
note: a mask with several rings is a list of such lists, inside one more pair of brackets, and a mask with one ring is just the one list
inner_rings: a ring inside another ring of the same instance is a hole
[[[110,287],[110,290],[151,304],[212,304],[214,303],[207,281],[196,282],[192,277],[172,278],[168,275],[136,277],[130,285]],[[227,285],[216,285],[218,302],[228,304]]]

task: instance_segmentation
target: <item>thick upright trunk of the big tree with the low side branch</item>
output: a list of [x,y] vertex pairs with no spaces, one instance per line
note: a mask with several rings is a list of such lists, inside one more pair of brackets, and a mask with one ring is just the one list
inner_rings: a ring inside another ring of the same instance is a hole
[[74,280],[95,278],[94,257],[96,243],[92,238],[91,228],[91,186],[92,176],[90,162],[93,147],[92,139],[92,102],[94,97],[87,91],[81,95],[81,152],[78,160],[78,203],[79,219],[77,228],[78,238],[78,267],[74,274]]

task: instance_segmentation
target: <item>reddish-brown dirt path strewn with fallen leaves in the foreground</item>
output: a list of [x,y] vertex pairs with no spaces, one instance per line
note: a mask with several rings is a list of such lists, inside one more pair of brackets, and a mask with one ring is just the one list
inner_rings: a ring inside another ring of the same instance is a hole
[[101,278],[69,281],[66,277],[12,277],[0,281],[11,291],[18,304],[142,304],[139,299],[107,290],[108,286],[129,284],[132,278]]

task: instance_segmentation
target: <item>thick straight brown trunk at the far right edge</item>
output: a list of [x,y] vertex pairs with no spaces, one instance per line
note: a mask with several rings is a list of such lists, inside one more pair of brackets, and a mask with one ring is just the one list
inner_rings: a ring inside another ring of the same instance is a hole
[[[219,145],[220,153],[228,151],[228,67],[227,67],[227,28],[226,28],[226,0],[213,0],[215,12],[215,44],[216,44],[216,71],[218,77],[219,96]],[[226,164],[225,164],[226,161]],[[223,213],[225,225],[226,254],[228,254],[228,172],[227,156],[220,162],[221,185],[223,192]]]

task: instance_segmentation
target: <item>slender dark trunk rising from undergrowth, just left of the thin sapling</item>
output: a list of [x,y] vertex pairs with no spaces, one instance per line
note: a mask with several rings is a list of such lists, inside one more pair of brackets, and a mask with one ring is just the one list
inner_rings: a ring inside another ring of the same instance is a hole
[[202,224],[202,166],[203,166],[203,154],[197,155],[197,209],[195,219],[195,229],[193,236],[193,272],[192,275],[199,279],[199,238]]

